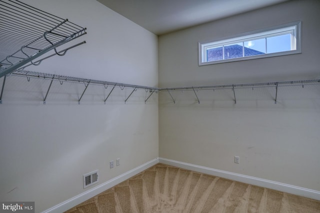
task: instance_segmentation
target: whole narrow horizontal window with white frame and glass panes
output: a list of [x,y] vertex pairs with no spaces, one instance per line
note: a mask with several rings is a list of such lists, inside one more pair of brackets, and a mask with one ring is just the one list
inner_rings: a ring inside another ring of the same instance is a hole
[[301,53],[301,22],[245,35],[199,42],[199,66]]

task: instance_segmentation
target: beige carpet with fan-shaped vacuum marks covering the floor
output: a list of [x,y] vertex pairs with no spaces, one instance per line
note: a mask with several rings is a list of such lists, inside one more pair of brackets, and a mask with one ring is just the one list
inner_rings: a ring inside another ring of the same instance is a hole
[[320,213],[320,201],[157,164],[66,213]]

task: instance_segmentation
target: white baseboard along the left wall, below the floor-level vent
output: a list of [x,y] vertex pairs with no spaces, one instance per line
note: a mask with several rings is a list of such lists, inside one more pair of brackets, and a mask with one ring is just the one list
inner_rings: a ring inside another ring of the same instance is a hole
[[145,164],[142,164],[126,173],[123,173],[122,175],[119,175],[103,184],[100,184],[88,191],[85,191],[67,201],[64,201],[48,210],[45,210],[42,213],[62,213],[65,212],[69,209],[71,209],[72,207],[75,207],[78,204],[81,204],[82,202],[104,192],[107,189],[110,189],[112,187],[114,187],[115,185],[139,174],[140,172],[154,166],[155,164],[159,163],[158,158],[155,158],[151,161],[146,162]]

